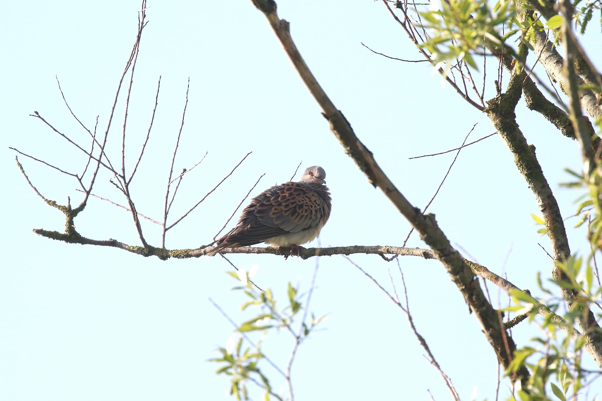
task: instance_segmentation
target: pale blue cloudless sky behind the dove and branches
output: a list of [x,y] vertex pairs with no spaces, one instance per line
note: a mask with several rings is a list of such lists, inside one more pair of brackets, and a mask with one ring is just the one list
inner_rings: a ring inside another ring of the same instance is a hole
[[[379,2],[281,0],[278,5],[318,81],[415,206],[430,200],[453,154],[409,157],[458,147],[475,123],[469,141],[494,132],[484,115],[442,87],[426,63],[388,60],[361,46],[419,58]],[[146,133],[162,79],[154,133],[133,187],[138,210],[161,217],[189,77],[176,171],[208,156],[184,180],[173,216],[253,152],[231,180],[173,229],[168,248],[210,242],[261,174],[265,177],[254,194],[290,179],[301,161],[305,167],[324,167],[332,192],[322,245],[402,245],[408,223],[344,154],[252,2],[151,1],[149,6],[128,117],[132,155]],[[220,257],[162,262],[36,236],[33,228],[61,230],[64,220],[31,191],[8,149],[70,171],[81,169],[81,155],[29,114],[38,111],[73,138],[85,138],[63,104],[57,75],[78,117],[92,126],[99,115],[99,127],[105,127],[139,7],[137,0],[33,1],[11,2],[2,13],[0,159],[7,179],[0,266],[2,400],[229,399],[228,379],[214,375],[217,365],[207,360],[217,357],[215,349],[225,346],[232,332],[208,298],[240,322],[250,317],[238,310],[244,298],[230,290],[235,283],[225,272],[231,267]],[[576,142],[544,118],[526,112],[520,117],[563,215],[572,215],[578,194],[558,184],[569,179],[563,168],[579,170]],[[113,127],[115,146],[121,121]],[[76,183],[66,176],[24,157],[20,161],[46,197],[58,203],[79,200]],[[102,176],[95,192],[123,202],[108,179]],[[466,256],[507,273],[517,286],[536,293],[536,272],[549,274],[550,260],[538,245],[549,248],[548,242],[536,233],[530,216],[538,213],[535,199],[497,136],[462,151],[429,210]],[[76,225],[84,236],[138,245],[129,214],[99,200],[90,201]],[[144,222],[144,229],[147,239],[160,245],[157,226]],[[573,250],[585,251],[583,232],[569,229],[569,234]],[[416,234],[408,245],[424,246]],[[391,269],[401,292],[396,265],[378,256],[352,259],[389,289]],[[282,302],[287,282],[308,289],[315,263],[320,264],[311,309],[329,318],[297,355],[297,399],[426,400],[427,390],[437,400],[449,398],[405,315],[343,257],[236,255],[231,260],[242,269],[258,266],[255,281],[275,290]],[[495,356],[442,266],[415,257],[400,262],[418,330],[462,399],[474,391],[477,399],[494,399]],[[506,297],[500,298],[495,287],[490,290],[506,305]],[[524,344],[533,331],[521,325],[513,334]],[[290,352],[286,341],[284,333],[276,335],[265,349],[282,366]],[[270,378],[278,387],[280,378]],[[252,394],[259,399],[260,393]],[[507,396],[506,387],[501,395]]]

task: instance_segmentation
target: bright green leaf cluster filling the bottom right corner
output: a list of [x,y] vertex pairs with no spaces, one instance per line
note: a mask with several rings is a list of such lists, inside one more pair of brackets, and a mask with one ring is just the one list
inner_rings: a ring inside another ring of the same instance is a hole
[[[593,260],[593,259],[589,259]],[[578,320],[586,320],[585,314],[602,297],[600,280],[597,269],[593,263],[584,263],[581,257],[570,257],[565,263],[557,265],[564,273],[567,280],[550,280],[554,291],[544,286],[541,276],[538,275],[539,289],[548,299],[539,301],[527,293],[520,291],[511,292],[515,305],[507,308],[520,314],[527,314],[531,323],[541,329],[541,336],[531,338],[533,345],[518,349],[507,374],[517,372],[523,365],[529,368],[531,376],[526,387],[517,391],[518,399],[551,400],[548,388],[556,399],[577,399],[582,395],[594,379],[602,374],[600,371],[589,371],[582,368],[582,347],[586,338],[577,332],[575,327]],[[564,313],[560,312],[560,305],[564,305],[561,295],[563,290],[577,294],[576,301]],[[538,310],[546,305],[551,313],[538,315]],[[599,308],[598,308],[599,310]],[[562,313],[562,319],[557,315]],[[597,319],[602,313],[597,314]],[[541,321],[538,321],[541,320]],[[512,396],[509,400],[516,400]]]

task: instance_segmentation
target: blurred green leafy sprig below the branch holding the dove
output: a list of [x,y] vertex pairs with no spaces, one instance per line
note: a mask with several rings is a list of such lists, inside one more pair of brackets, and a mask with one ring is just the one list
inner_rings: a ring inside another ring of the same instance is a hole
[[[299,287],[293,286],[291,283],[288,283],[287,287],[288,304],[278,310],[271,289],[259,290],[249,280],[247,272],[239,270],[238,274],[235,272],[228,272],[228,274],[236,278],[241,284],[233,287],[232,290],[242,291],[246,295],[247,299],[241,305],[241,310],[247,311],[255,307],[255,316],[237,325],[235,333],[228,340],[229,344],[218,349],[220,357],[211,359],[211,361],[223,364],[216,373],[230,377],[229,391],[237,400],[249,399],[247,385],[252,383],[265,391],[265,401],[270,400],[271,397],[282,401],[284,396],[281,392],[279,392],[280,394],[276,393],[275,387],[270,384],[264,373],[263,369],[268,364],[287,382],[289,397],[292,399],[292,384],[289,373],[297,347],[309,337],[320,322],[323,322],[326,315],[315,317],[311,313],[308,316],[306,308],[311,292],[299,294]],[[305,307],[303,307],[302,301],[306,302]],[[285,369],[280,369],[275,361],[268,358],[262,351],[265,338],[267,338],[268,333],[274,331],[288,332],[292,337],[291,354]],[[250,332],[259,333],[260,337],[256,343],[250,340]]]

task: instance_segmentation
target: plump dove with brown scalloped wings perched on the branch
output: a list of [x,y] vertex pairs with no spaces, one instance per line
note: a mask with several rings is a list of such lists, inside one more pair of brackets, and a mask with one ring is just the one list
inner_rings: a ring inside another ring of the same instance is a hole
[[330,216],[325,177],[323,168],[312,166],[303,171],[299,182],[285,182],[261,192],[244,208],[236,227],[217,240],[208,255],[260,242],[296,247],[311,241]]

